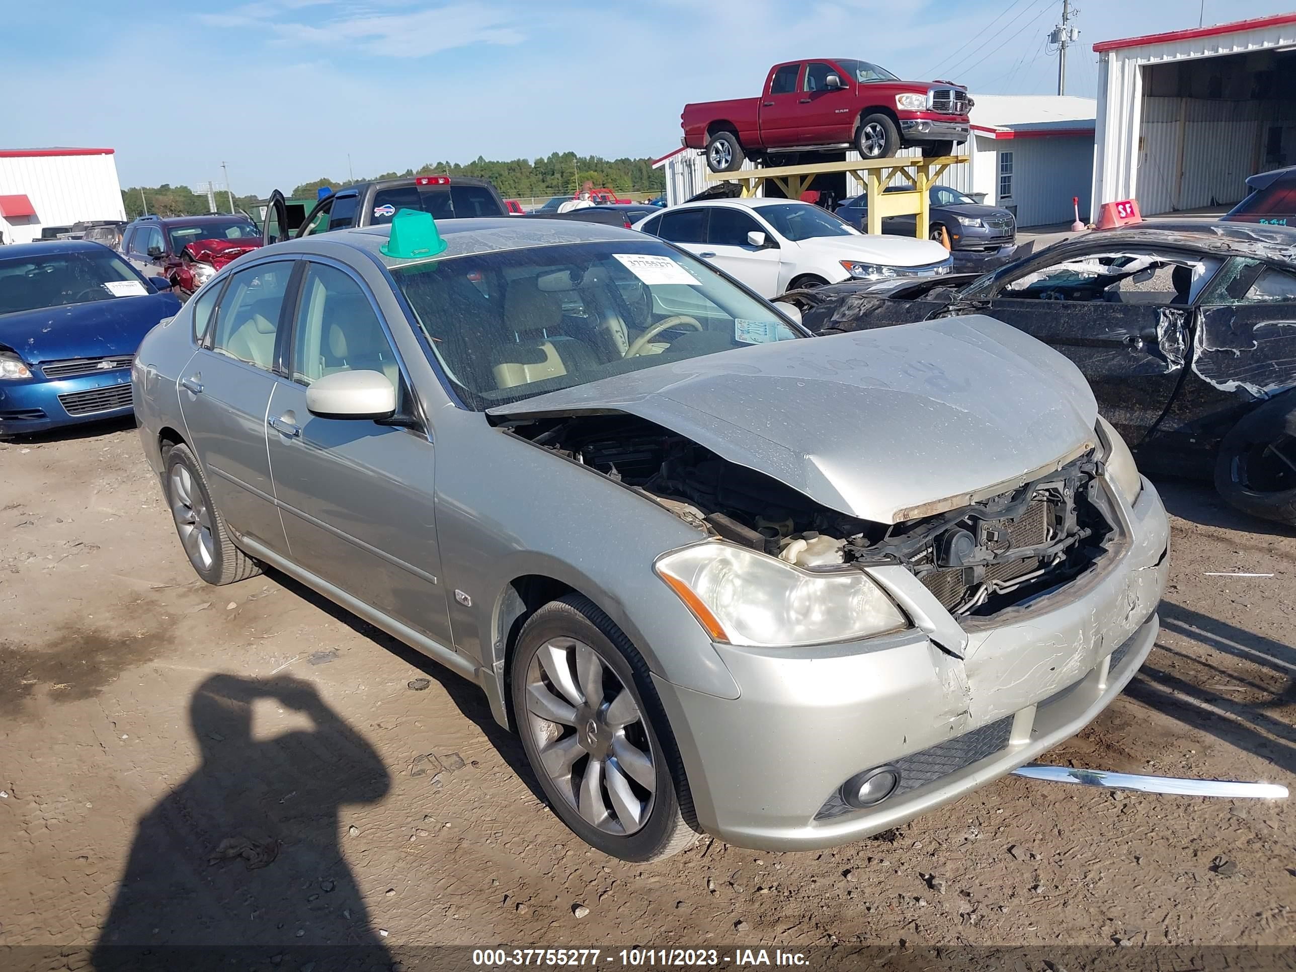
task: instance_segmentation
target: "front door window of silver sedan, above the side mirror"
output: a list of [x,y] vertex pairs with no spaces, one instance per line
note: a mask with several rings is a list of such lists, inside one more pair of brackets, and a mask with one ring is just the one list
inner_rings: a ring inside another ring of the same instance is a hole
[[340,371],[376,371],[400,388],[397,356],[363,288],[341,270],[311,263],[297,305],[292,377],[310,385]]

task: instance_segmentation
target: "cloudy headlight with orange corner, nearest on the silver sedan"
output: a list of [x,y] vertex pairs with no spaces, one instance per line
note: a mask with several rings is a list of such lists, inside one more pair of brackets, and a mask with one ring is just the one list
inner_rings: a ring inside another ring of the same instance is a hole
[[802,570],[718,542],[667,553],[653,569],[717,642],[792,647],[908,627],[899,608],[858,570]]

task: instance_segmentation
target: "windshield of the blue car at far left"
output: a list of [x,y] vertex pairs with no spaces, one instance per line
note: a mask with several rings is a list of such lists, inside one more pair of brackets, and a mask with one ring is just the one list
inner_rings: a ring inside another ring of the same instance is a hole
[[0,314],[152,293],[139,275],[109,250],[10,259],[3,253],[0,250]]

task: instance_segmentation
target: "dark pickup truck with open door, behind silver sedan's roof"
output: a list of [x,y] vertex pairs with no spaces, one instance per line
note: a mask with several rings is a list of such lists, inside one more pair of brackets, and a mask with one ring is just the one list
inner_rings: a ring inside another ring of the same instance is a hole
[[485,179],[412,175],[343,187],[316,202],[310,213],[303,211],[305,206],[289,203],[275,189],[266,202],[262,240],[272,244],[333,229],[381,226],[402,209],[422,210],[434,219],[508,216],[504,200]]

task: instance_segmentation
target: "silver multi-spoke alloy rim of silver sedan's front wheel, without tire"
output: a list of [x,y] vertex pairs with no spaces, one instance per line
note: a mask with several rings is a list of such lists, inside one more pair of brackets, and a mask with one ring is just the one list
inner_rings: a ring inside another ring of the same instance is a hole
[[657,759],[630,688],[574,638],[551,638],[526,670],[526,726],[562,798],[605,833],[629,836],[656,802]]

